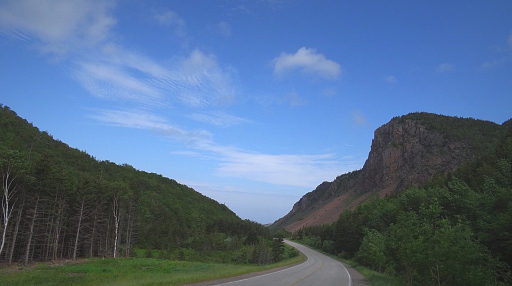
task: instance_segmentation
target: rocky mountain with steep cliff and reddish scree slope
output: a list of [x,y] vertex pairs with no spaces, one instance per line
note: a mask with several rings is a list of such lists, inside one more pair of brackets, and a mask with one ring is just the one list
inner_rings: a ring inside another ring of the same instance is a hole
[[495,148],[509,123],[431,113],[395,117],[375,130],[368,159],[360,170],[318,185],[270,228],[295,231],[333,223],[343,210],[355,208],[372,195],[385,196],[453,172]]

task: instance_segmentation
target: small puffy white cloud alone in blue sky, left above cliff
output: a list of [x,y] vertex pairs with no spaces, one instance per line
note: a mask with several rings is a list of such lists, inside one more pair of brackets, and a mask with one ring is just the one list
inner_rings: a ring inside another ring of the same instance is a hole
[[300,70],[303,73],[326,79],[336,79],[342,73],[339,63],[326,59],[316,49],[302,47],[295,54],[281,53],[272,60],[274,75],[281,76],[288,71]]

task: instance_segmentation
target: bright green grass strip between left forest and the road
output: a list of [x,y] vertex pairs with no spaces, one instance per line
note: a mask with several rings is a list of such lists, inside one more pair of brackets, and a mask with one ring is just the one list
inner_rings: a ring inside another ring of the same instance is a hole
[[38,263],[0,268],[0,285],[182,285],[288,266],[299,256],[266,266],[174,261],[157,258],[86,258],[68,265]]

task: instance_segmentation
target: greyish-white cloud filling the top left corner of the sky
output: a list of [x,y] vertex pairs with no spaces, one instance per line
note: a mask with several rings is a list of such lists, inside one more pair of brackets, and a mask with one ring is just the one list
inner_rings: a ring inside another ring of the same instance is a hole
[[0,6],[0,29],[13,35],[34,36],[42,50],[63,55],[92,47],[110,34],[116,20],[109,14],[113,1],[18,0]]

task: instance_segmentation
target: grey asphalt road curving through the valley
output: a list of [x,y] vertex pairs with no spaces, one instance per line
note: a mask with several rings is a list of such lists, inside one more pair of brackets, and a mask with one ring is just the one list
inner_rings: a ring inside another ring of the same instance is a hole
[[354,286],[351,281],[349,271],[337,260],[334,260],[322,253],[314,251],[300,244],[285,240],[285,243],[300,250],[306,255],[307,260],[304,263],[287,268],[281,271],[264,274],[256,277],[245,278],[241,280],[225,282],[218,285],[229,286]]

